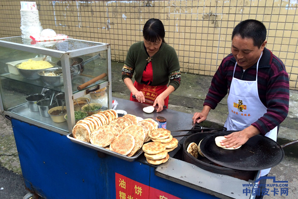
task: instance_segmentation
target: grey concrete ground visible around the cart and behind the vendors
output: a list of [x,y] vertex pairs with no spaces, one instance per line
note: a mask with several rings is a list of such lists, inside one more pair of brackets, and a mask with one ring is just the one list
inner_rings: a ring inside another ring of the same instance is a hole
[[[123,63],[112,62],[112,91],[113,97],[129,100],[129,90],[121,80]],[[201,111],[203,101],[208,92],[212,77],[182,74],[181,86],[170,95],[169,108],[193,114]],[[286,120],[281,124],[278,143],[284,144],[298,139],[298,91],[290,92],[290,110]],[[212,110],[204,122],[224,125],[227,115],[226,98],[215,110]],[[298,195],[298,145],[284,148],[284,160],[274,167],[269,176],[275,176],[277,181],[289,181],[288,196],[275,195],[269,192],[264,199],[296,199]],[[272,183],[272,180],[268,180]],[[2,189],[3,188],[3,189]],[[270,191],[274,188],[270,187]],[[0,115],[0,199],[22,199],[27,193],[22,179],[18,154],[14,142],[10,121]]]

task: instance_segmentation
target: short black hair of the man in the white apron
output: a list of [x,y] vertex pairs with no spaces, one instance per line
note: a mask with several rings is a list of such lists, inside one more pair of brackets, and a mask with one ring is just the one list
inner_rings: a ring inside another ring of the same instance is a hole
[[262,43],[266,40],[267,30],[265,25],[258,20],[254,19],[247,19],[241,21],[236,25],[232,32],[232,40],[235,35],[241,36],[242,39],[244,38],[252,38],[253,45],[261,47]]

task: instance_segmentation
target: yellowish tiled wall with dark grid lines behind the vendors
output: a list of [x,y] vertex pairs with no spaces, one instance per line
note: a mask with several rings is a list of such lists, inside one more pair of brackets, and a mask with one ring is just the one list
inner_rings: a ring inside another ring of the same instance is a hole
[[[76,39],[110,43],[112,60],[123,62],[143,25],[159,18],[166,42],[176,49],[181,71],[214,75],[230,53],[233,27],[263,21],[267,48],[286,65],[291,89],[298,89],[298,0],[36,0],[43,28]],[[20,1],[0,1],[0,37],[18,36]]]

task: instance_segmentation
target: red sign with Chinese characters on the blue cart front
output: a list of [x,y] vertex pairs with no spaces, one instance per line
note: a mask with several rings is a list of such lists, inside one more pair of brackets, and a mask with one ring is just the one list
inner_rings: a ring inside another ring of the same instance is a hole
[[116,199],[180,199],[115,173]]

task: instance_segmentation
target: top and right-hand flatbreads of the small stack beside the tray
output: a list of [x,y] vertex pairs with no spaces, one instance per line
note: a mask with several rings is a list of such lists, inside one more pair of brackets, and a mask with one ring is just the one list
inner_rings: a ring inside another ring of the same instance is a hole
[[167,152],[173,151],[178,146],[178,140],[173,138],[171,131],[164,128],[157,128],[149,133],[153,142],[162,143]]

